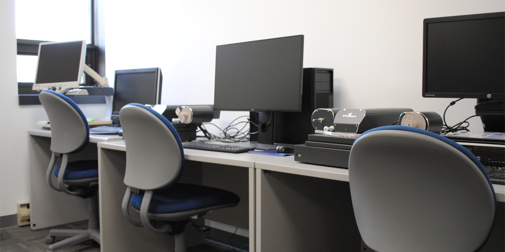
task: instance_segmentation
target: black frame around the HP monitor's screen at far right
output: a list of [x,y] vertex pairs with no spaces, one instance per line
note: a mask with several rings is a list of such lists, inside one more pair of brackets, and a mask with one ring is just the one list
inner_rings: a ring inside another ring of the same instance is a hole
[[443,22],[454,22],[454,21],[466,21],[466,20],[479,20],[479,19],[492,19],[492,18],[505,18],[505,12],[496,13],[484,13],[484,14],[473,14],[473,15],[463,15],[463,16],[451,16],[451,17],[440,17],[440,18],[427,18],[424,19],[423,25],[423,97],[434,97],[434,98],[477,98],[477,99],[505,99],[505,93],[460,93],[458,90],[450,93],[438,93],[438,92],[427,92],[426,79],[427,79],[427,46],[428,46],[428,24],[432,23],[443,23]]

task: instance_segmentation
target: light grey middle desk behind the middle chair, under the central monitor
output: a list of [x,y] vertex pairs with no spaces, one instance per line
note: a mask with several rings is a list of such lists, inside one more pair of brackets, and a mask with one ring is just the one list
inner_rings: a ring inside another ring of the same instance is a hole
[[[98,143],[97,146],[102,251],[158,251],[173,247],[173,237],[135,227],[121,213],[126,191],[123,183],[126,165],[124,141]],[[255,251],[255,163],[276,158],[282,157],[184,149],[184,172],[179,181],[219,187],[239,195],[237,207],[213,211],[205,218],[248,229],[249,251]],[[130,212],[134,214],[134,211]],[[245,223],[244,219],[247,219]],[[201,243],[203,236],[188,227],[186,239],[191,246]]]

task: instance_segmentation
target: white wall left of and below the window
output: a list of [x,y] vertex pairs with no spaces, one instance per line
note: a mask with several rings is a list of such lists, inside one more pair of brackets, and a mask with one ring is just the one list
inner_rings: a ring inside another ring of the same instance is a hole
[[[16,204],[30,200],[27,131],[47,120],[42,105],[18,105],[15,20],[15,0],[0,1],[0,216],[16,214]],[[105,115],[103,104],[80,107],[87,117]]]

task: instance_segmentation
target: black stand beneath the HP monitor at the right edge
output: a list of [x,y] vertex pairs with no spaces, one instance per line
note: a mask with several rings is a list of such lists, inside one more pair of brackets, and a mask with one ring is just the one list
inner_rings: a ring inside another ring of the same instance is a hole
[[475,114],[480,116],[485,132],[505,132],[505,100],[477,99]]

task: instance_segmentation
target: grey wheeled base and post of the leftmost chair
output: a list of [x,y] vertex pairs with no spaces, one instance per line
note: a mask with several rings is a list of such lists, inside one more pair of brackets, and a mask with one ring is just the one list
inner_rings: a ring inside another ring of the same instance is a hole
[[[51,244],[55,241],[55,236],[71,237]],[[100,223],[98,218],[98,197],[96,191],[93,196],[89,198],[88,229],[52,229],[45,238],[45,243],[51,244],[47,247],[47,251],[56,251],[87,240],[94,240],[100,243]]]

